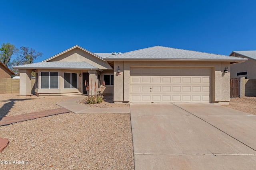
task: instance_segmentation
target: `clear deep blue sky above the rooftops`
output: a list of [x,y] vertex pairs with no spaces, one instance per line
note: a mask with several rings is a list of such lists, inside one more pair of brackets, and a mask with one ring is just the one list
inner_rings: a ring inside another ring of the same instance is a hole
[[256,50],[255,0],[5,0],[0,44],[43,61],[74,45],[127,52],[155,45],[229,55]]

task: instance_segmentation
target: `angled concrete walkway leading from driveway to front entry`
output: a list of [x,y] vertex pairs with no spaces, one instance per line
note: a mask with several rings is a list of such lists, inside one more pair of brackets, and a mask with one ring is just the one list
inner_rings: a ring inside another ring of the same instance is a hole
[[74,113],[130,113],[130,107],[113,107],[113,108],[92,108],[76,103],[84,99],[85,96],[79,96],[70,100],[57,103]]

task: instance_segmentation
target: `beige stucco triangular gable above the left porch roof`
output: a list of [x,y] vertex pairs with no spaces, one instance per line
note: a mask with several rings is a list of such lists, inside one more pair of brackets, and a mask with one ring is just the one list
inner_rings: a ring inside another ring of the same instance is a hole
[[[64,53],[50,61],[84,61],[102,70],[112,69],[112,67],[104,60],[95,57],[79,48]],[[48,61],[49,62],[49,61]]]

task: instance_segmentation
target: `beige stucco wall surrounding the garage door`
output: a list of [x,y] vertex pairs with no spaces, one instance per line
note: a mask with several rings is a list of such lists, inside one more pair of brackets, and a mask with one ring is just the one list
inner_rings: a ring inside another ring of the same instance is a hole
[[120,67],[121,75],[114,76],[114,101],[130,101],[130,67],[212,68],[211,101],[213,103],[230,101],[230,72],[223,73],[226,66],[230,67],[229,62],[115,61],[114,74],[116,74],[118,66]]

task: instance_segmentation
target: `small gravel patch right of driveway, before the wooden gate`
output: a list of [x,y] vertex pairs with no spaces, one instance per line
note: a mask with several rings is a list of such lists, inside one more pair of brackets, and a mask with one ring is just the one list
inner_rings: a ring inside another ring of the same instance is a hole
[[231,98],[229,105],[222,106],[256,115],[256,97]]

